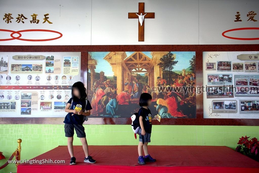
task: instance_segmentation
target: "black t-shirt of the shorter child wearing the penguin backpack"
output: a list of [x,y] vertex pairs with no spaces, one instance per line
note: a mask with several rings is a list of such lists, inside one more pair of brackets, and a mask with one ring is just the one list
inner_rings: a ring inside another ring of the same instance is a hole
[[[139,116],[142,116],[142,121],[144,125],[144,129],[146,133],[151,133],[152,130],[152,117],[151,117],[151,112],[147,108],[141,107],[138,112]],[[140,127],[141,128],[141,127]]]

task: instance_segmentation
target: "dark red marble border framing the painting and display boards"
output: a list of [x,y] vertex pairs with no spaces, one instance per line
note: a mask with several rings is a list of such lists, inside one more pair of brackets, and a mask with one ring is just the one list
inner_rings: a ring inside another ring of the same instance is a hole
[[[202,52],[259,51],[259,44],[242,45],[73,45],[73,46],[0,46],[0,52],[81,52],[81,80],[87,75],[88,52],[108,51],[195,51],[196,82],[203,84]],[[0,118],[1,124],[62,124],[63,118]],[[130,118],[89,118],[86,124],[131,124]],[[204,119],[203,94],[197,95],[195,119],[167,119],[154,122],[162,125],[250,125],[259,126],[259,119]]]

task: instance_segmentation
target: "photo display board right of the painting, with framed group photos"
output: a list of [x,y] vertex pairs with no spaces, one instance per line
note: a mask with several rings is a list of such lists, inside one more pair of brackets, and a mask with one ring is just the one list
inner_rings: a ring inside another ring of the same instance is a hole
[[255,51],[203,52],[204,118],[259,119],[258,57]]

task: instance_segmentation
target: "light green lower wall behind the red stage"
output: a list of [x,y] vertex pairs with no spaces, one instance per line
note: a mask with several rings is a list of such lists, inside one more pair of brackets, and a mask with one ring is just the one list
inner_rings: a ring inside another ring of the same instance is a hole
[[[85,125],[85,131],[89,145],[138,144],[130,125]],[[244,135],[259,138],[259,126],[154,125],[150,145],[215,145],[234,149]],[[31,159],[58,145],[67,145],[61,124],[0,124],[0,151],[7,159],[17,148],[19,138],[23,140],[21,159]],[[81,145],[79,138],[75,137],[74,145]],[[5,162],[1,160],[0,166]],[[10,171],[16,172],[14,164],[0,170]]]

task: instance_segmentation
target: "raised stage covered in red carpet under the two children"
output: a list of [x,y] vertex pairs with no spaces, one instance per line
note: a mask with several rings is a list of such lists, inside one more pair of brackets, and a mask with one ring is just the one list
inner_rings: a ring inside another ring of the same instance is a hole
[[259,163],[225,146],[148,146],[157,161],[139,166],[137,146],[89,146],[95,164],[84,163],[82,146],[74,146],[76,165],[69,165],[67,146],[33,159],[65,160],[64,164],[20,164],[17,173],[46,172],[259,172]]

